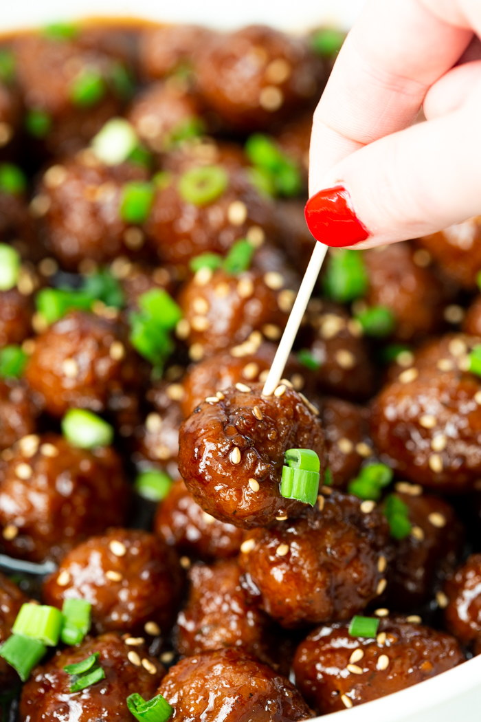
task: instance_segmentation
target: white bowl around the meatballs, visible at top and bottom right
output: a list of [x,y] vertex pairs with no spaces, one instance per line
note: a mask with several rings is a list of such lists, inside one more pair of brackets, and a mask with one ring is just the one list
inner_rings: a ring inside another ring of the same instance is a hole
[[[0,32],[84,17],[142,17],[159,22],[196,22],[221,29],[250,23],[265,23],[291,32],[322,23],[347,29],[364,1],[2,0]],[[480,722],[481,655],[414,687],[342,713],[319,717],[317,722],[339,720],[340,714],[349,722]]]

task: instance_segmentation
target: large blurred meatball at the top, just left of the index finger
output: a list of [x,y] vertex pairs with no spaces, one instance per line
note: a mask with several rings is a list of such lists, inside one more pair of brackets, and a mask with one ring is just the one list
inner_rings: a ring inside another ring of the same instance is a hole
[[217,35],[195,64],[200,95],[243,131],[267,128],[305,107],[320,90],[318,75],[319,61],[304,40],[262,25]]

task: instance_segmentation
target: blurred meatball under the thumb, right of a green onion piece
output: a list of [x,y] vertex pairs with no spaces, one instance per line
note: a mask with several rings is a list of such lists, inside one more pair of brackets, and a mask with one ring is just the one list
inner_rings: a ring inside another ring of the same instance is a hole
[[428,267],[416,263],[417,258],[406,241],[363,253],[369,277],[366,301],[392,311],[394,333],[402,341],[437,331],[443,320],[446,290]]

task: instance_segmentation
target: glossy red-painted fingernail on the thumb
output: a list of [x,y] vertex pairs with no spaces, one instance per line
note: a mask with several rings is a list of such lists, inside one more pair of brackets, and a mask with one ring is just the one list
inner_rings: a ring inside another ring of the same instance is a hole
[[344,186],[325,188],[309,198],[304,209],[306,223],[316,240],[335,248],[361,243],[369,237],[353,211]]

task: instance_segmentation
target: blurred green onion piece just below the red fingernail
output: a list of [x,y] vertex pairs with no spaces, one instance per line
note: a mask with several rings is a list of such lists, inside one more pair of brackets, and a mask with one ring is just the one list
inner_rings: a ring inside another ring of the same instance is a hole
[[363,296],[368,287],[368,276],[362,251],[336,248],[328,256],[324,279],[327,296],[339,303],[347,303]]

